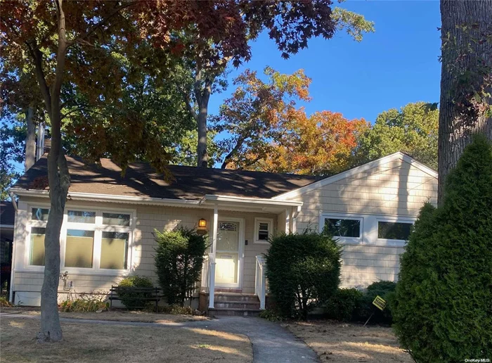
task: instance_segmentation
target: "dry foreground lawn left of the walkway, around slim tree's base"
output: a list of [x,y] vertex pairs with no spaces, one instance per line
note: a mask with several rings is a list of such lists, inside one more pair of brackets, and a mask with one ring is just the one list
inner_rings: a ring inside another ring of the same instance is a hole
[[39,319],[2,317],[0,362],[252,362],[246,336],[169,327],[63,323],[63,341],[39,344]]

